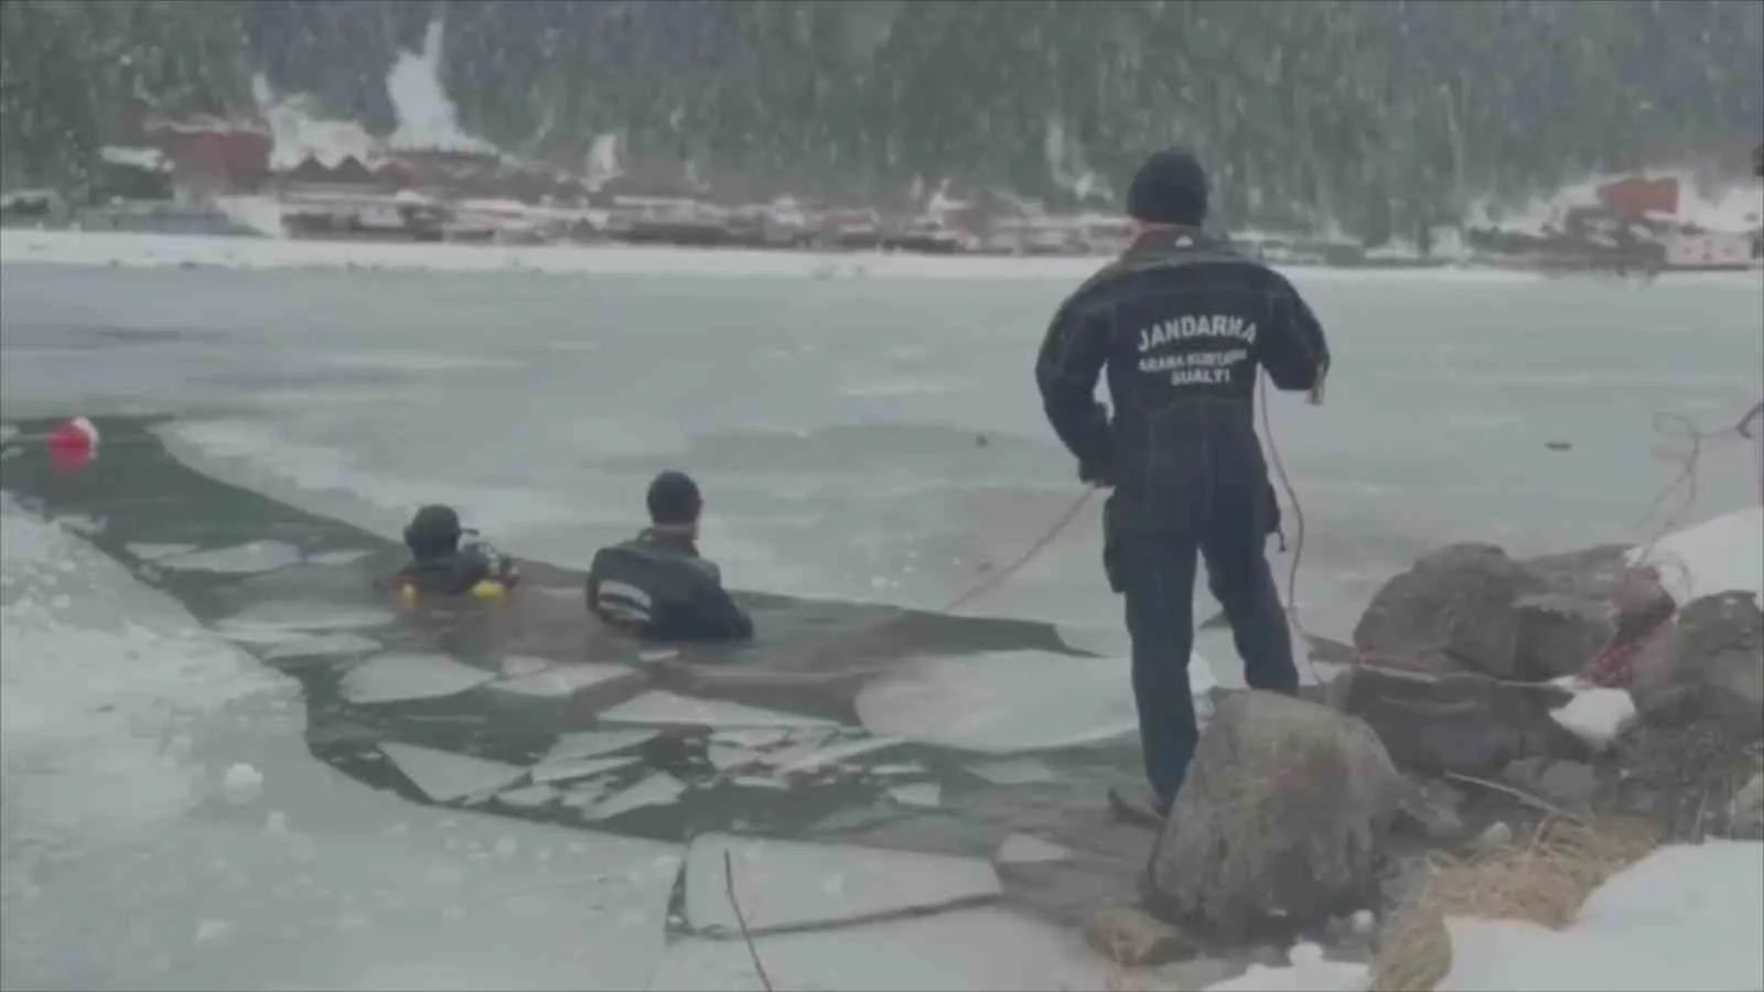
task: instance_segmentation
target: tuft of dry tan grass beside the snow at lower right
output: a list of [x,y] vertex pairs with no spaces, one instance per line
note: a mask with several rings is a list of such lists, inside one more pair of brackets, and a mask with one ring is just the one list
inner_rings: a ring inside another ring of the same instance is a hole
[[1448,916],[1568,925],[1600,883],[1658,842],[1658,830],[1644,821],[1549,817],[1526,844],[1436,858],[1422,891],[1383,934],[1372,988],[1431,992],[1452,969]]

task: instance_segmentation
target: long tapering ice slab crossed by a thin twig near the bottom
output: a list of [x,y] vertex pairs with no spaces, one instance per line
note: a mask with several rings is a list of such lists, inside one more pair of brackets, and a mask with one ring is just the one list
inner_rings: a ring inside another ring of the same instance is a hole
[[739,932],[725,851],[753,934],[938,909],[1004,891],[991,863],[977,858],[706,833],[686,851],[686,925],[699,934]]

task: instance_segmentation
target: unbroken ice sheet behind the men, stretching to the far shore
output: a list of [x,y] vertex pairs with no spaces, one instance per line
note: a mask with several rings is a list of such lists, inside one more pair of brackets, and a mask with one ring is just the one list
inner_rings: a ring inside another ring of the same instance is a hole
[[[1632,540],[1671,478],[1653,415],[1715,429],[1760,392],[1750,275],[1297,279],[1337,355],[1325,408],[1270,404],[1319,634],[1431,544]],[[570,567],[681,466],[732,584],[937,607],[1080,492],[1030,378],[1069,289],[7,265],[0,417],[176,413],[203,471],[388,537],[452,501]],[[1748,461],[1704,459],[1702,510],[1752,498]],[[1115,630],[1097,517],[968,611]]]

